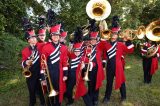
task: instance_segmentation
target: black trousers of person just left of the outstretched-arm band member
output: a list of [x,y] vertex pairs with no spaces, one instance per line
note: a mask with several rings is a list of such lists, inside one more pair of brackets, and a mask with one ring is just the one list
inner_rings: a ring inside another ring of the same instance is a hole
[[97,80],[97,68],[93,68],[92,71],[89,72],[88,81],[88,94],[91,97],[92,103],[98,101],[99,89],[96,90],[96,80]]

